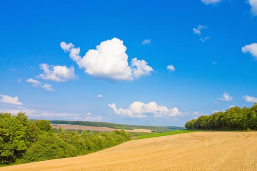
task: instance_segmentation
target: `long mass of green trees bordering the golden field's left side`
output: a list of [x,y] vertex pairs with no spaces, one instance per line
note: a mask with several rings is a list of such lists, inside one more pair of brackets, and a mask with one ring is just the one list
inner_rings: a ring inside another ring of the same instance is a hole
[[79,134],[59,128],[55,133],[49,121],[31,121],[25,113],[0,113],[0,165],[83,155],[129,139],[124,130]]

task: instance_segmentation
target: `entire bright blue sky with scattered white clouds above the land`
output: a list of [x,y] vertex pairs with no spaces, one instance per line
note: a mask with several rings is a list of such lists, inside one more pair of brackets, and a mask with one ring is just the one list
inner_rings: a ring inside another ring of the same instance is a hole
[[184,126],[257,102],[257,0],[0,3],[2,112]]

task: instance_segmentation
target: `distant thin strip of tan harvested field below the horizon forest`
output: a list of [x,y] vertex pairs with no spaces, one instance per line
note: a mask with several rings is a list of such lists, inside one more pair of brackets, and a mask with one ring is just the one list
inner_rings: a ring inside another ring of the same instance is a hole
[[[108,128],[108,127],[91,127],[91,126],[82,126],[82,125],[70,125],[70,124],[51,124],[52,128],[59,128],[59,126],[62,127],[62,129],[74,129],[74,130],[94,130],[94,131],[114,131],[114,130],[121,130],[121,129],[114,129],[114,128]],[[151,132],[150,129],[124,129],[126,132]]]

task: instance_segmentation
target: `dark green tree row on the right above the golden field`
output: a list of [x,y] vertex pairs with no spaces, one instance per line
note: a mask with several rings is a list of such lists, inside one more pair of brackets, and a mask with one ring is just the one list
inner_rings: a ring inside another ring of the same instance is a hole
[[257,130],[257,103],[252,107],[232,107],[225,112],[200,116],[188,121],[187,129],[208,130]]

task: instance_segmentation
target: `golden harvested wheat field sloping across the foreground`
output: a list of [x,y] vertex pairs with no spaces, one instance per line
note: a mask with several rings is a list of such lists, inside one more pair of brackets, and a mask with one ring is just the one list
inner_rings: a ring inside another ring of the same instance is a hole
[[85,156],[1,171],[257,171],[257,132],[194,132],[133,140]]

